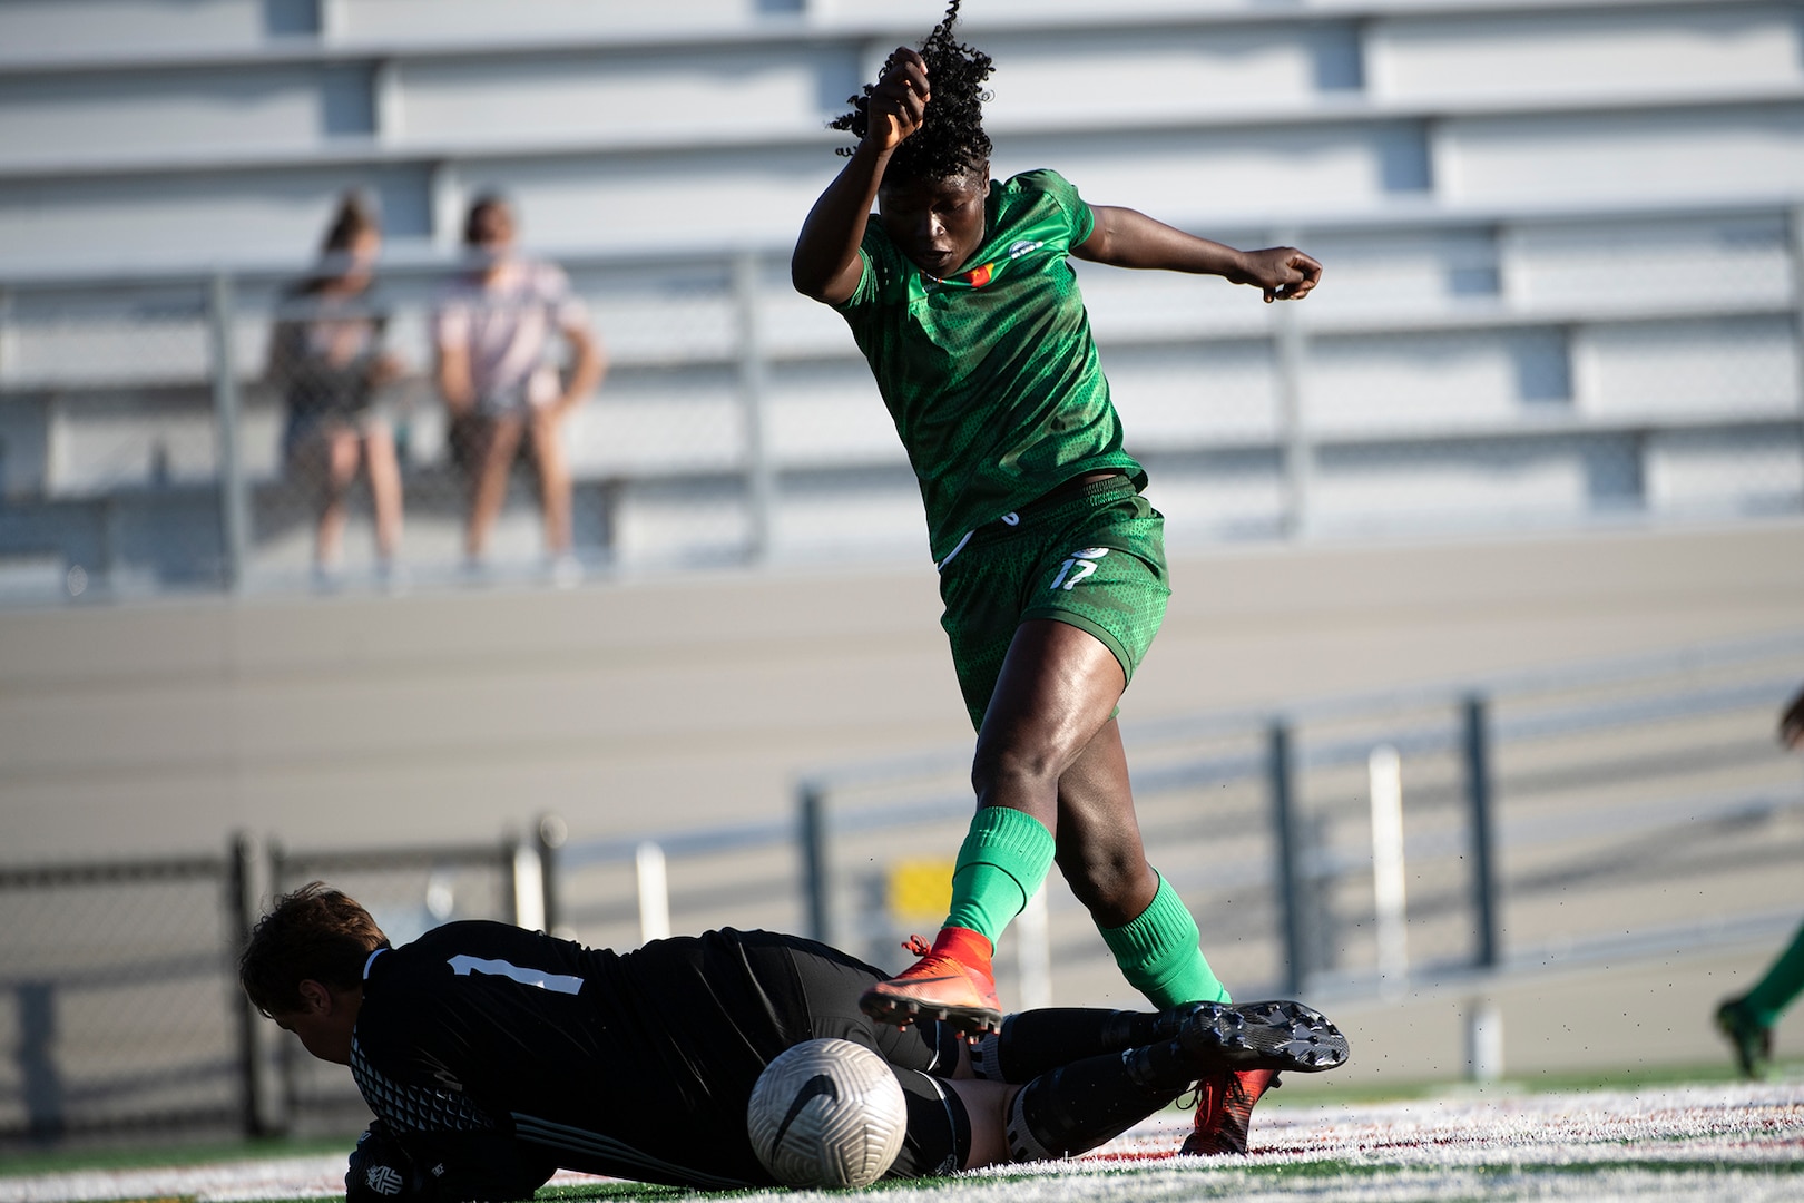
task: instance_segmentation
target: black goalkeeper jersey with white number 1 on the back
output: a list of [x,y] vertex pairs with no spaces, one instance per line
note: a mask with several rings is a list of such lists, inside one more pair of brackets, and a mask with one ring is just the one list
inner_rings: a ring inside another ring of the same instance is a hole
[[745,1104],[765,1064],[810,1035],[797,947],[830,952],[725,929],[615,954],[447,923],[372,954],[352,1075],[417,1160],[465,1181],[465,1198],[530,1194],[554,1167],[772,1185]]

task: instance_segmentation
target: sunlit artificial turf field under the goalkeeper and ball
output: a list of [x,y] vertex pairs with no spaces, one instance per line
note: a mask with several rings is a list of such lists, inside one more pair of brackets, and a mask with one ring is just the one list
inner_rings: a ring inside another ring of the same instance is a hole
[[[1804,1199],[1804,1075],[1517,1093],[1508,1086],[1391,1102],[1295,1102],[1254,1115],[1245,1158],[1183,1158],[1189,1116],[1165,1113],[1072,1162],[879,1183],[909,1203]],[[705,1140],[705,1133],[696,1133]],[[9,1158],[13,1160],[13,1158]],[[316,1199],[343,1194],[345,1149],[161,1165],[13,1160],[0,1203]],[[180,1158],[173,1158],[180,1162]],[[846,1192],[696,1196],[559,1174],[539,1199],[844,1199]]]

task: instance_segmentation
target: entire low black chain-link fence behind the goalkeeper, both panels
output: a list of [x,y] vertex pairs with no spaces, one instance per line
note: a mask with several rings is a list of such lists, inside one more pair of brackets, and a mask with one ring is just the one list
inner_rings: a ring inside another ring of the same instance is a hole
[[262,907],[316,878],[395,943],[464,918],[547,923],[541,853],[512,839],[0,868],[0,1149],[363,1127],[343,1068],[238,988]]

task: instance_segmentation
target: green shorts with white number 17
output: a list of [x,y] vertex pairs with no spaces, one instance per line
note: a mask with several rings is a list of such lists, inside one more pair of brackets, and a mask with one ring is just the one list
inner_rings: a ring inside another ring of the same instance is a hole
[[1133,680],[1167,597],[1165,518],[1128,476],[1059,491],[978,527],[940,563],[940,626],[953,640],[972,727],[983,727],[1025,620],[1057,619],[1090,631]]

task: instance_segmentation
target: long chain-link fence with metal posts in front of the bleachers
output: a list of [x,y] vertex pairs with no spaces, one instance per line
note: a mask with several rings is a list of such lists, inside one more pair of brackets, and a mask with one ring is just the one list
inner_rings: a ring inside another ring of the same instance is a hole
[[[1772,207],[1216,231],[1317,253],[1295,307],[1079,271],[1174,545],[1735,519],[1804,509],[1799,229]],[[568,548],[525,436],[480,557],[437,366],[455,265],[384,263],[325,314],[271,272],[0,281],[0,597],[924,554],[870,372],[783,254],[563,269],[612,364],[554,424]],[[296,415],[296,328],[384,363],[330,438]],[[575,361],[547,341],[554,391]]]

